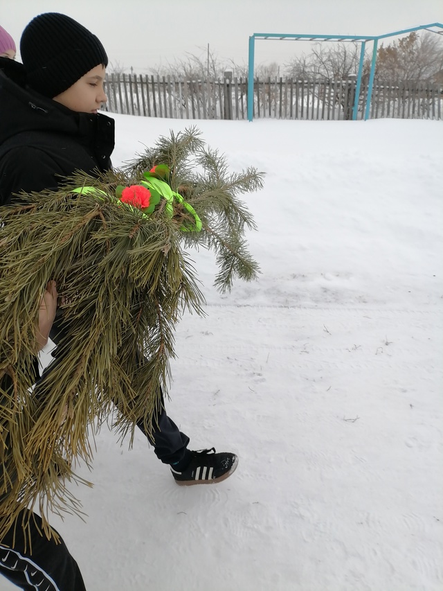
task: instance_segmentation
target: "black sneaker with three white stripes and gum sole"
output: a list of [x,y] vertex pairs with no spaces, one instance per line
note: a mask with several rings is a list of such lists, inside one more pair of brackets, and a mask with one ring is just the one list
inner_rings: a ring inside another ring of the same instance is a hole
[[171,468],[175,482],[180,486],[190,484],[214,484],[228,478],[237,468],[238,458],[235,454],[215,453],[215,448],[191,452],[192,458],[185,470],[177,472]]

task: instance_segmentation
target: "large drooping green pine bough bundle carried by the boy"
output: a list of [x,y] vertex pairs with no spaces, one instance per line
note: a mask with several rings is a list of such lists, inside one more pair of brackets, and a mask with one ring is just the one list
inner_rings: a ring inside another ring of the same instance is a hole
[[[172,213],[165,199],[149,215],[118,201],[122,187],[156,166],[182,197]],[[131,441],[137,423],[150,429],[160,387],[168,391],[174,328],[185,310],[204,313],[188,250],[215,252],[221,292],[235,278],[255,279],[245,239],[255,224],[239,195],[262,181],[255,168],[229,173],[226,158],[190,127],[120,170],[77,173],[57,191],[20,195],[2,208],[0,540],[25,507],[38,507],[48,537],[50,511],[81,513],[65,482],[89,484],[72,467],[76,459],[90,464],[91,437],[109,417]],[[89,189],[75,193],[79,187]],[[39,303],[51,279],[64,337],[34,391]]]

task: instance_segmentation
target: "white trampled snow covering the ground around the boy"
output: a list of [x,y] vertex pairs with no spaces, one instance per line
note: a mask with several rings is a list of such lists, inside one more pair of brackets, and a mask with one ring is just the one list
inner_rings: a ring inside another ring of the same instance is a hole
[[102,430],[85,522],[53,518],[87,589],[442,590],[442,123],[112,116],[116,166],[195,124],[266,172],[262,274],[220,295],[195,252],[207,316],[172,362],[168,414],[237,471],[179,487]]

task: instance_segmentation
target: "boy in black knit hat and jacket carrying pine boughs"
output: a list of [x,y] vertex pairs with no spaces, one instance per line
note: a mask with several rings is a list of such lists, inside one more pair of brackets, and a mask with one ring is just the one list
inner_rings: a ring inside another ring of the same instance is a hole
[[[114,149],[114,120],[98,112],[107,100],[107,55],[99,39],[70,17],[49,12],[28,24],[20,51],[23,64],[0,58],[1,205],[21,191],[57,188],[76,170],[97,176],[111,168]],[[57,317],[50,336],[60,341]],[[237,466],[231,453],[188,450],[188,436],[163,404],[152,427],[148,439],[177,484],[219,482]]]

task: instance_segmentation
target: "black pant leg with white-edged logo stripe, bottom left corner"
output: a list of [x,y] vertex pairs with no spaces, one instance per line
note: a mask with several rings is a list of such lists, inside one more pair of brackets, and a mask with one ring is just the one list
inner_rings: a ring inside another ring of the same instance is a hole
[[82,574],[64,541],[57,544],[42,535],[42,520],[35,513],[30,518],[32,554],[29,552],[21,528],[25,511],[17,518],[17,527],[11,527],[1,541],[0,574],[26,591],[86,591]]

